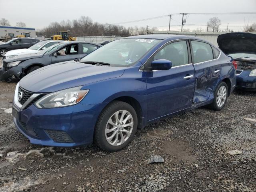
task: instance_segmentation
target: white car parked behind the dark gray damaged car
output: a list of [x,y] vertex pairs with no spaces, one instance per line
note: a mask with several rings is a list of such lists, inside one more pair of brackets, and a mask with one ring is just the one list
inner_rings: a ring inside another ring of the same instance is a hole
[[13,58],[16,57],[18,55],[22,55],[22,54],[28,54],[28,53],[38,53],[41,50],[44,50],[56,43],[59,42],[63,42],[62,40],[54,40],[54,41],[40,41],[37,44],[34,44],[33,46],[31,46],[28,49],[16,49],[16,50],[11,50],[6,52],[6,54],[4,55],[4,58],[9,59],[9,58]]

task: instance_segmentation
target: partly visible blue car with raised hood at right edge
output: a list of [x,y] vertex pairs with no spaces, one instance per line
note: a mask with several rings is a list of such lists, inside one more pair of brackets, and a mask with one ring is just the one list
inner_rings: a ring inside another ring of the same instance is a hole
[[226,33],[218,36],[219,48],[233,58],[236,87],[256,91],[256,34]]

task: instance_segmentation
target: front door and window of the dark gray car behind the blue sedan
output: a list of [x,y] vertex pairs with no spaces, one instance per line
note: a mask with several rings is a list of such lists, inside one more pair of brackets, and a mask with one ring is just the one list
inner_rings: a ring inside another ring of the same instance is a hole
[[79,46],[81,43],[69,44],[58,50],[57,56],[53,56],[53,53],[52,64],[81,58]]

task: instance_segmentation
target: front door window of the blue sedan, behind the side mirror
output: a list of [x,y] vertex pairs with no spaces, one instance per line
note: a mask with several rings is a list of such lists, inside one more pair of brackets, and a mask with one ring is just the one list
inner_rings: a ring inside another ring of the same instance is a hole
[[154,55],[153,60],[156,59],[167,59],[172,62],[173,67],[188,64],[187,42],[178,41],[166,45]]

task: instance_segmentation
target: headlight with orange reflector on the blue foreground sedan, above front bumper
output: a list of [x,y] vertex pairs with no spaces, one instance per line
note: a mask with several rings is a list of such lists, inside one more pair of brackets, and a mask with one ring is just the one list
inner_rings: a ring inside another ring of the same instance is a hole
[[58,108],[77,104],[89,92],[88,89],[81,90],[81,88],[82,86],[47,94],[38,100],[35,105],[38,108]]

